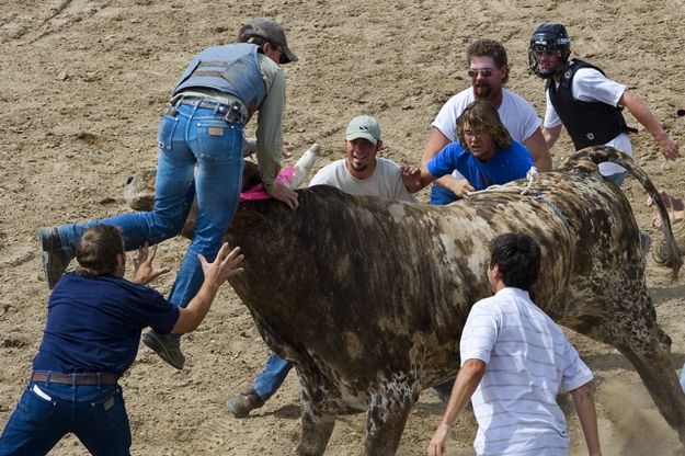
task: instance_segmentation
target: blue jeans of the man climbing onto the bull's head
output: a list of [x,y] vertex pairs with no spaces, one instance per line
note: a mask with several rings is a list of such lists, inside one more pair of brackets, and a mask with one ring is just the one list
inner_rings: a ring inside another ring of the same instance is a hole
[[213,261],[236,208],[242,185],[242,125],[227,124],[217,110],[178,106],[164,115],[157,139],[155,208],[102,220],[58,227],[65,253],[75,255],[76,243],[89,227],[109,224],[121,227],[126,250],[146,241],[151,244],[181,232],[193,198],[197,197],[197,220],[169,301],[185,307],[195,296],[204,275],[197,254]]

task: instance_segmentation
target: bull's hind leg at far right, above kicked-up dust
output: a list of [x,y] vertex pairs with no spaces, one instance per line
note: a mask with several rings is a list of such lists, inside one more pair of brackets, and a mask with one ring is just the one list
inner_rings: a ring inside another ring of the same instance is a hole
[[[685,445],[685,395],[671,360],[671,339],[657,323],[647,292],[631,296],[630,310],[606,320],[581,318],[571,329],[615,346],[632,363],[659,411]],[[642,309],[637,312],[636,309]]]

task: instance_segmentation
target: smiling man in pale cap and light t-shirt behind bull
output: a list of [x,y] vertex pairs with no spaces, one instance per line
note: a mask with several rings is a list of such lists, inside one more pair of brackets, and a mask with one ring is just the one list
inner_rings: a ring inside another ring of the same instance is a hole
[[[381,146],[378,122],[367,115],[354,117],[345,129],[345,158],[321,168],[309,186],[330,185],[351,195],[418,202],[406,187],[409,176],[403,176],[402,167],[376,157]],[[252,386],[230,398],[226,408],[236,418],[247,417],[276,392],[292,368],[288,361],[272,353]]]

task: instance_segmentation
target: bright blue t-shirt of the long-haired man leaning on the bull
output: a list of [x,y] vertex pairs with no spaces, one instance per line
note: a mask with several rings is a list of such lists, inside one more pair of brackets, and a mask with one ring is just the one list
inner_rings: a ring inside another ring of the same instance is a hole
[[[426,166],[435,179],[452,174],[457,170],[476,190],[486,190],[490,185],[503,185],[523,179],[530,167],[535,166],[530,152],[521,142],[513,141],[509,147],[498,148],[488,161],[480,161],[465,149],[459,141],[445,146]],[[431,204],[443,205],[457,201],[458,197],[439,185],[431,190]]]

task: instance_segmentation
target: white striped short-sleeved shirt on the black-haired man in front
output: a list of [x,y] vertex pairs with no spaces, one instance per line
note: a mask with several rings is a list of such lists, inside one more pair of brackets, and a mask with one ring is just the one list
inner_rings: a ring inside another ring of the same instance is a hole
[[478,455],[568,455],[569,435],[557,404],[592,372],[561,329],[527,292],[503,288],[473,305],[460,343],[461,363],[488,366],[471,397]]

